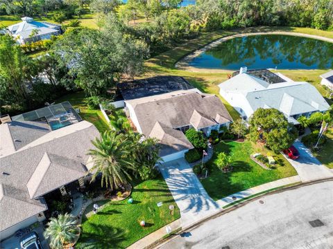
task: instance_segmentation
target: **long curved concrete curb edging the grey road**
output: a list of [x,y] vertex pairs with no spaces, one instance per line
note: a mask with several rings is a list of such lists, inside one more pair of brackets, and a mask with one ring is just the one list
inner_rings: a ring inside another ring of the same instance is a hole
[[194,228],[199,227],[202,223],[206,222],[206,221],[210,221],[211,219],[215,219],[223,214],[227,214],[228,212],[232,212],[234,210],[237,210],[238,208],[243,207],[244,205],[251,203],[253,201],[256,201],[260,198],[262,198],[262,196],[268,196],[268,195],[273,195],[273,194],[278,194],[281,192],[285,192],[285,191],[289,191],[289,190],[296,190],[299,187],[305,187],[305,186],[309,186],[309,185],[314,185],[317,183],[324,183],[326,181],[333,181],[333,177],[331,178],[325,178],[325,179],[319,179],[319,180],[315,180],[315,181],[311,181],[311,182],[306,182],[306,183],[296,183],[296,185],[292,185],[292,186],[281,186],[281,188],[279,188],[278,190],[272,190],[271,192],[266,192],[264,194],[259,194],[258,196],[255,196],[253,198],[247,199],[245,201],[241,201],[240,203],[234,204],[232,206],[230,206],[230,208],[226,208],[224,210],[219,210],[217,212],[215,212],[214,214],[207,216],[203,219],[200,219],[199,221],[196,221],[195,223],[188,225],[185,228],[178,228],[180,229],[180,231],[176,232],[175,234],[171,234],[169,237],[167,238],[161,238],[161,239],[157,239],[157,241],[155,241],[154,243],[151,243],[151,245],[148,245],[146,247],[144,247],[144,249],[148,249],[148,248],[160,248],[160,246],[168,243],[169,241],[176,239],[176,237],[179,237],[180,234],[182,234],[182,232],[185,232],[185,230],[189,231],[189,230],[193,230]]

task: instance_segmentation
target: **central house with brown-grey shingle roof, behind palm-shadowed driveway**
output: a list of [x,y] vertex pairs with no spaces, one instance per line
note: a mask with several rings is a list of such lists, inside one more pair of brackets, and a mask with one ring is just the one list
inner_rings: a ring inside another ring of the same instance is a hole
[[232,118],[218,97],[198,89],[178,90],[125,100],[126,113],[146,137],[160,140],[164,162],[185,156],[193,148],[185,131],[194,128],[210,136]]

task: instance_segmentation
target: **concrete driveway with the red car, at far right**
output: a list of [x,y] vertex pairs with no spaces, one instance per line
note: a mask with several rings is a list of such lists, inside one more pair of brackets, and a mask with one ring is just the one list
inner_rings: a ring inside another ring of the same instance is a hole
[[312,156],[311,151],[302,142],[296,140],[293,146],[300,152],[300,158],[298,160],[286,158],[296,169],[303,183],[333,177],[333,172]]

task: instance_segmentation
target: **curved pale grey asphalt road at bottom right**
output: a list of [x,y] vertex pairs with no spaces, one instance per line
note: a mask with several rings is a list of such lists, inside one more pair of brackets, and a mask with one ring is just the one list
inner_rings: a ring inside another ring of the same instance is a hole
[[[317,219],[323,225],[313,228]],[[160,248],[333,248],[333,181],[265,196]]]

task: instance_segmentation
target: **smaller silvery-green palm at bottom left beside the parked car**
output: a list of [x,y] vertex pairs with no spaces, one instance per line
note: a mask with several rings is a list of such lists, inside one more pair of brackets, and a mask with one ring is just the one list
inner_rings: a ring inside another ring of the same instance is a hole
[[66,213],[50,219],[44,237],[49,239],[51,248],[64,248],[65,244],[74,243],[79,234],[78,221]]

